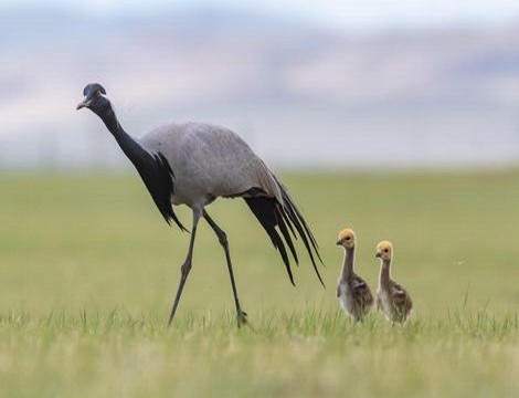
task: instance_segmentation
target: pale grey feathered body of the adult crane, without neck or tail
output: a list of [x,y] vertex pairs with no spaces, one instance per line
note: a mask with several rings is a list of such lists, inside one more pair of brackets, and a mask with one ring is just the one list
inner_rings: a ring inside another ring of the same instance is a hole
[[242,196],[260,188],[283,202],[273,174],[234,132],[210,124],[160,126],[139,139],[162,154],[174,175],[173,205],[203,208],[218,197]]

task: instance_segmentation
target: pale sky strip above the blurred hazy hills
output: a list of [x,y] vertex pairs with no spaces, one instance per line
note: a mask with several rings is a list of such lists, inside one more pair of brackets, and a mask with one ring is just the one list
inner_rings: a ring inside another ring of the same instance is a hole
[[50,4],[92,13],[160,12],[163,8],[219,7],[257,10],[343,29],[442,27],[519,21],[519,0],[0,0],[0,6]]

